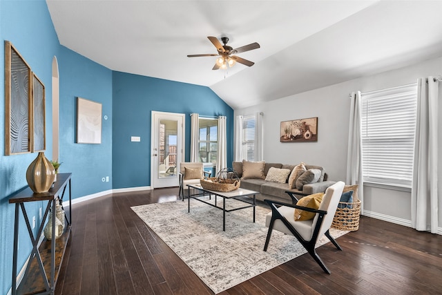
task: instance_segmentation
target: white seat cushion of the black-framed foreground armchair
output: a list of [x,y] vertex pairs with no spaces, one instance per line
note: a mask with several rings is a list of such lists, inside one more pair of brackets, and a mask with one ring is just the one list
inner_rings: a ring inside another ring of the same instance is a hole
[[[282,206],[278,208],[278,211],[281,213],[282,216],[284,216],[285,219],[298,231],[298,234],[304,239],[304,240],[310,240],[311,236],[313,235],[313,230],[311,229],[311,226],[313,225],[313,220],[305,220],[305,221],[295,221],[294,219],[294,208]],[[267,214],[265,217],[265,226],[269,227],[271,220],[271,212]],[[282,223],[281,220],[275,220],[273,223],[273,229],[276,231],[281,231],[284,234],[291,234],[291,231],[287,229],[287,227]]]

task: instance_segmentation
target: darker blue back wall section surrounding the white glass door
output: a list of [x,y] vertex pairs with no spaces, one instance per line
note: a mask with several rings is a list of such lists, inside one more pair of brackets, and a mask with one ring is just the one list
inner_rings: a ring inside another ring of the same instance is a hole
[[[113,188],[151,185],[151,111],[186,114],[186,161],[190,114],[227,116],[227,163],[233,160],[233,109],[210,88],[128,73],[113,73]],[[140,142],[131,142],[140,136]]]

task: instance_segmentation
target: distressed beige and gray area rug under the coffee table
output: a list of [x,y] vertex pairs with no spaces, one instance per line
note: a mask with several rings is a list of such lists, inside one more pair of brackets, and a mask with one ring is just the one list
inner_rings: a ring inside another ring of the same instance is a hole
[[[269,248],[262,250],[270,211],[265,207],[256,207],[255,223],[252,208],[226,213],[222,231],[222,210],[198,200],[191,200],[190,213],[187,206],[187,200],[180,200],[131,208],[215,294],[307,253],[296,238],[279,231],[273,231]],[[243,202],[226,201],[227,209],[241,206]],[[330,229],[334,238],[346,233]],[[327,242],[323,236],[317,247]]]

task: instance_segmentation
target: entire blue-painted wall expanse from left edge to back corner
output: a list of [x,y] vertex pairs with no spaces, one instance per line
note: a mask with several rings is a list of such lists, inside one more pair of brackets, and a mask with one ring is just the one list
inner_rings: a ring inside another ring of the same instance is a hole
[[[227,161],[233,160],[233,110],[210,88],[113,72],[59,44],[46,1],[0,0],[0,68],[5,40],[11,41],[46,90],[46,157],[52,156],[52,59],[59,67],[60,172],[71,172],[73,198],[110,189],[150,185],[151,111],[186,114],[186,160],[190,151],[190,113],[227,116]],[[0,70],[0,294],[12,282],[15,206],[12,193],[27,186],[26,169],[37,153],[5,156],[4,70]],[[77,144],[77,97],[102,104],[102,144]],[[104,119],[107,117],[107,120]],[[131,135],[142,138],[131,142]],[[52,160],[52,159],[50,159]],[[109,176],[109,182],[102,178]],[[26,211],[39,219],[47,202],[29,202]],[[75,216],[75,210],[73,210]],[[75,227],[75,225],[73,225]],[[37,234],[37,227],[33,229]],[[32,250],[20,213],[18,270]]]

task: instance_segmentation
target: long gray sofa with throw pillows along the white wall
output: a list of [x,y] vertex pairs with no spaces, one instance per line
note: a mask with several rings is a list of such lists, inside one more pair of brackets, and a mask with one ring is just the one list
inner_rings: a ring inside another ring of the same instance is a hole
[[[233,170],[238,173],[238,177],[242,178],[242,162],[233,162]],[[292,171],[296,165],[292,164],[280,164],[280,163],[265,163],[264,174],[267,176],[271,167],[278,169],[289,169]],[[293,191],[294,193],[302,196],[311,195],[313,193],[323,193],[327,187],[335,183],[335,181],[327,180],[328,175],[325,173],[323,167],[305,164],[306,169],[321,169],[323,171],[323,177],[321,176],[318,182],[311,184],[304,184],[302,190],[291,189],[288,183],[288,177],[285,183],[270,182],[265,179],[248,178],[241,179],[240,187],[242,189],[250,189],[252,191],[259,191],[260,194],[256,195],[257,200],[277,200],[281,202],[291,203],[291,198],[286,191]]]

